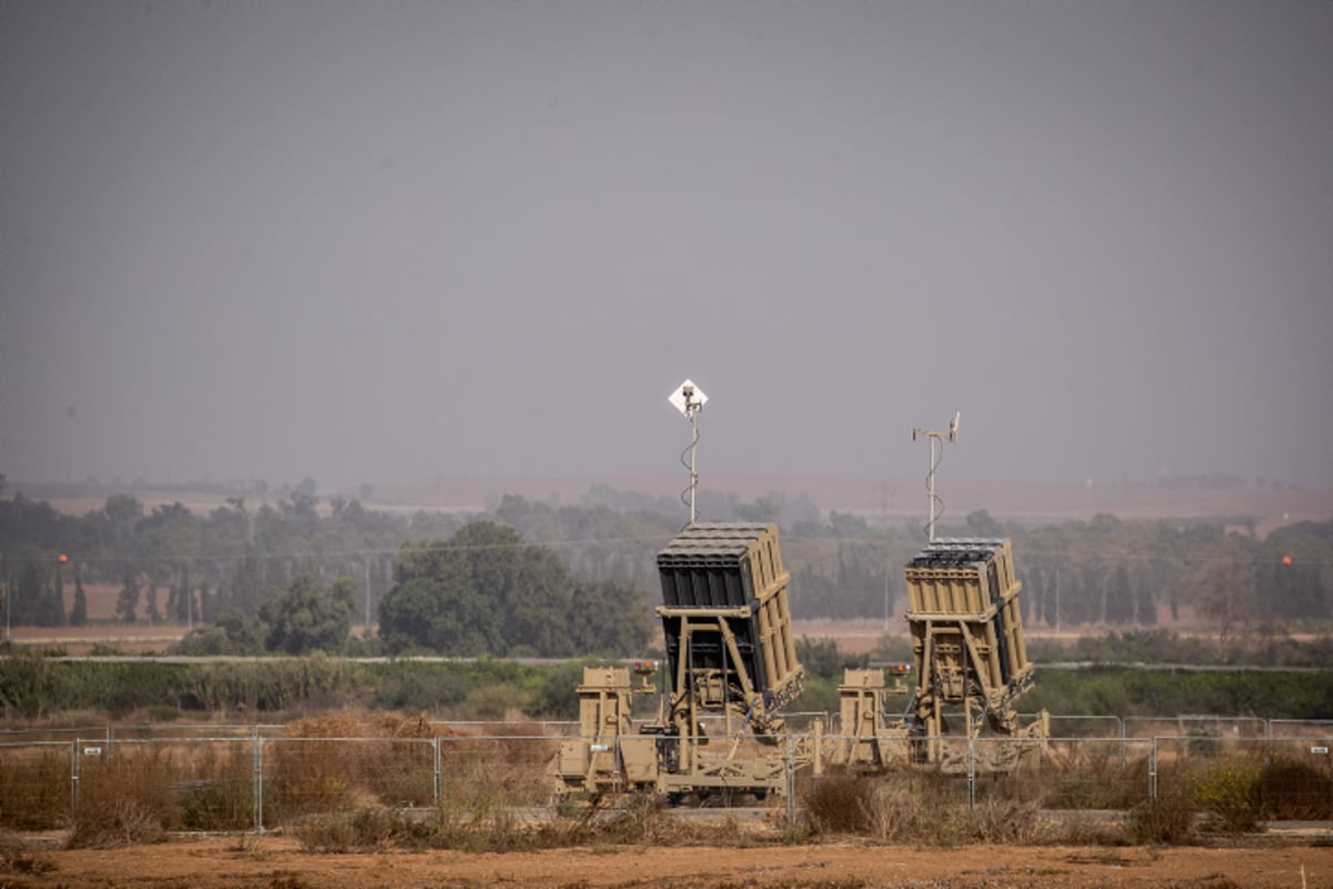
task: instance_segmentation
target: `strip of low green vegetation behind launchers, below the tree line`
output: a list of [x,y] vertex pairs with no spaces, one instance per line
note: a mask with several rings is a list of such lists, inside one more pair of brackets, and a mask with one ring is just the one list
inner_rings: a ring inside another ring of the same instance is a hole
[[[41,656],[0,660],[7,718],[95,710],[116,718],[136,709],[277,713],[361,706],[377,710],[499,718],[524,713],[576,718],[584,661],[351,661],[321,656],[203,664],[80,661]],[[806,710],[837,709],[837,678],[812,676]],[[1313,720],[1333,713],[1333,669],[1318,672],[1148,672],[1090,666],[1040,669],[1024,708],[1062,716],[1214,713]]]

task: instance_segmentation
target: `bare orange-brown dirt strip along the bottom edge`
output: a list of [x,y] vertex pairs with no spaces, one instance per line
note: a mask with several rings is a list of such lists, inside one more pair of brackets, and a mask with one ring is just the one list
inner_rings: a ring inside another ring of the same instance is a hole
[[[826,844],[750,848],[575,848],[469,854],[315,854],[288,837],[208,837],[113,850],[33,853],[31,870],[0,869],[0,886],[109,889],[444,889],[464,886],[647,888],[869,886],[1333,886],[1333,846],[964,846]],[[27,866],[27,865],[24,865]]]

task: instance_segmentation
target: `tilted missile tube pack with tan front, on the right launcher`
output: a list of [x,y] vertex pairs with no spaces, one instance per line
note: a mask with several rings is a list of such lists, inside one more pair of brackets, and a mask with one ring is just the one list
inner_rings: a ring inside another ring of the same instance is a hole
[[976,706],[1012,733],[1014,697],[1032,682],[1008,540],[944,538],[904,569],[917,666],[917,714],[937,733],[945,704]]

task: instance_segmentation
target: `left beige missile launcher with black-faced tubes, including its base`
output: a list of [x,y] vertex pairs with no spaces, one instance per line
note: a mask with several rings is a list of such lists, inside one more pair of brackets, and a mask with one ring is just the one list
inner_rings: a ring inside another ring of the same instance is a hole
[[[694,522],[657,553],[666,681],[655,718],[652,665],[589,666],[579,686],[580,734],[561,744],[560,790],[785,793],[793,752],[782,709],[801,690],[777,526]],[[713,725],[709,737],[708,725]]]

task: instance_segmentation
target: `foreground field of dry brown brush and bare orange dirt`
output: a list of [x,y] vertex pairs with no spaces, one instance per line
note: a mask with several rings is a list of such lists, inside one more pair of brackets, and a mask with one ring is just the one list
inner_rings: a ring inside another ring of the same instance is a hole
[[[336,712],[269,726],[263,736],[208,726],[208,737],[195,737],[189,726],[167,725],[161,737],[148,737],[127,728],[117,732],[115,753],[108,730],[95,746],[75,742],[79,802],[71,816],[61,814],[73,781],[68,741],[15,742],[0,810],[8,806],[11,829],[24,833],[0,829],[0,885],[1333,886],[1326,792],[1317,810],[1294,816],[1318,821],[1249,821],[1201,828],[1198,845],[1134,845],[1142,834],[1128,825],[1148,793],[1142,740],[1130,742],[1137,746],[1120,766],[1105,740],[1064,742],[1049,758],[1021,766],[1021,776],[978,781],[974,812],[964,810],[961,776],[918,772],[798,785],[796,820],[777,800],[744,809],[623,805],[604,810],[613,818],[601,821],[549,804],[553,740],[532,734],[535,725],[517,728]],[[1160,761],[1168,765],[1189,749],[1166,746]],[[1210,750],[1196,757],[1193,773],[1158,773],[1164,812],[1190,817],[1192,809],[1170,802],[1186,798],[1185,788],[1220,786],[1218,776],[1230,781],[1234,766],[1258,761],[1238,748],[1225,758]],[[435,790],[432,769],[440,776]],[[1310,766],[1300,776],[1320,777]],[[1288,802],[1308,802],[1300,788],[1286,790]],[[255,800],[263,801],[264,833],[252,832]],[[838,812],[862,804],[878,820],[830,826]],[[47,809],[53,818],[33,821]],[[379,821],[363,820],[373,812]],[[1225,812],[1213,806],[1197,824]],[[424,830],[375,826],[395,817]],[[603,824],[612,826],[599,829]],[[231,833],[188,833],[217,829]],[[916,838],[885,833],[896,829]],[[974,841],[1006,836],[1012,842]],[[408,837],[424,841],[404,842]],[[87,848],[67,849],[67,838]]]

